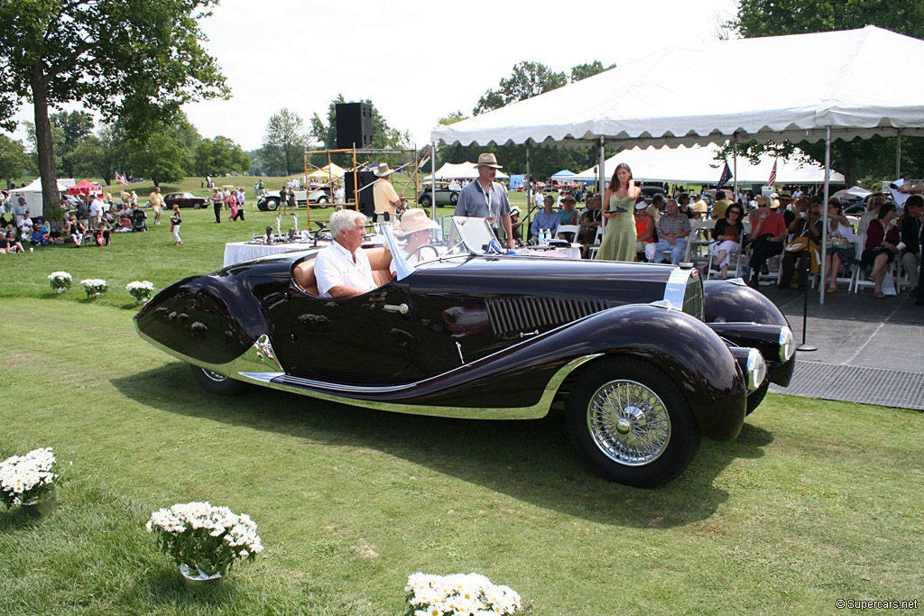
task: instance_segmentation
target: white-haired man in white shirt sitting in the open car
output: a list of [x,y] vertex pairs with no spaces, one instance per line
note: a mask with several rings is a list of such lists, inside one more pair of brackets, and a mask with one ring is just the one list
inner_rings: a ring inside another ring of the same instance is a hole
[[334,241],[314,259],[314,275],[322,297],[359,296],[375,288],[369,257],[360,248],[366,217],[356,210],[331,214]]

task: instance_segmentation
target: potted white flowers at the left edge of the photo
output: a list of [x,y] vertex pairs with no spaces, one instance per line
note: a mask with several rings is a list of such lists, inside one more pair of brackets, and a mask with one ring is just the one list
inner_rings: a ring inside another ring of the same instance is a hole
[[13,455],[0,462],[0,495],[7,507],[22,505],[31,515],[48,515],[57,510],[53,472],[55,453],[51,447]]

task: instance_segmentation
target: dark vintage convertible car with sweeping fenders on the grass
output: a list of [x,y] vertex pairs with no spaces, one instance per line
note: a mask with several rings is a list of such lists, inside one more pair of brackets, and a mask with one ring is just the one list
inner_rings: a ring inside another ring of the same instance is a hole
[[770,382],[789,383],[792,332],[741,281],[508,255],[483,219],[453,225],[413,265],[386,229],[386,246],[363,248],[381,284],[364,295],[320,297],[317,252],[289,252],[172,284],[136,326],[216,394],[249,383],[480,419],[538,418],[563,403],[590,466],[638,487],[680,475],[700,434],[735,439]]

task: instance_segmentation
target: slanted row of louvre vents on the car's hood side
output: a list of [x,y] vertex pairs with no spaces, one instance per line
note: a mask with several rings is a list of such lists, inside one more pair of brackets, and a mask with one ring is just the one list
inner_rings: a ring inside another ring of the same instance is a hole
[[609,308],[602,299],[502,297],[485,303],[494,334],[504,337],[557,327]]

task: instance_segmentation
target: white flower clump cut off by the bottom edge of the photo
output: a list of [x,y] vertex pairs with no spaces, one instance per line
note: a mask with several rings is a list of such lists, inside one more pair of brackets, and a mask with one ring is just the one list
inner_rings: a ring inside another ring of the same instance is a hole
[[520,609],[516,591],[494,585],[480,574],[412,574],[405,591],[409,604],[405,616],[515,614]]

